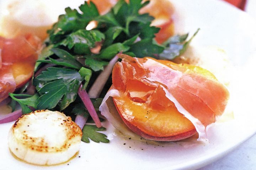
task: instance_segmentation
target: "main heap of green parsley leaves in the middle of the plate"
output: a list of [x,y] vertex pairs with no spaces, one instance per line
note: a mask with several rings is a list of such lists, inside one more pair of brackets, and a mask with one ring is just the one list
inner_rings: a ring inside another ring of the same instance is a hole
[[[76,101],[79,85],[83,82],[84,89],[90,86],[91,76],[96,77],[119,52],[137,57],[155,57],[162,52],[164,47],[154,42],[159,28],[150,26],[154,18],[138,12],[148,3],[131,0],[127,4],[120,0],[102,16],[93,2],[82,4],[81,12],[66,8],[66,14],[59,16],[59,21],[48,31],[49,39],[39,56],[38,68],[42,63],[56,66],[33,79],[39,95],[35,108],[60,111],[68,108]],[[97,21],[97,27],[86,30],[92,21]],[[91,49],[97,45],[101,46],[100,51],[93,53]]]

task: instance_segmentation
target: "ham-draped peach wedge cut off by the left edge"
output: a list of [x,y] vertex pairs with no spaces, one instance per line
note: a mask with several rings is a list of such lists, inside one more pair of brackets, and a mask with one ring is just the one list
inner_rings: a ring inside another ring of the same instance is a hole
[[0,37],[0,102],[31,78],[41,40],[32,34]]

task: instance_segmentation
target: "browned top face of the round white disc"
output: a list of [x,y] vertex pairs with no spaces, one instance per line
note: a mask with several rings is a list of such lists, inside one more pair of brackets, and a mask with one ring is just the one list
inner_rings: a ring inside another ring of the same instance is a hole
[[62,152],[80,143],[82,131],[63,113],[40,110],[22,115],[12,126],[20,145],[38,152]]

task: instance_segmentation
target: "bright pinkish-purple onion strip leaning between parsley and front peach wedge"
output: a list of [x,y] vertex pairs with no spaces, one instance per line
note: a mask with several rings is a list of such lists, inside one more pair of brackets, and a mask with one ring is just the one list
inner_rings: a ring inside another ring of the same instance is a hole
[[87,92],[82,89],[82,84],[79,87],[78,95],[80,96],[81,100],[84,102],[84,105],[88,110],[89,114],[91,115],[92,119],[94,120],[96,126],[100,128],[102,126],[100,119],[98,118],[98,115],[95,111],[95,108],[91,102],[90,97],[88,96]]

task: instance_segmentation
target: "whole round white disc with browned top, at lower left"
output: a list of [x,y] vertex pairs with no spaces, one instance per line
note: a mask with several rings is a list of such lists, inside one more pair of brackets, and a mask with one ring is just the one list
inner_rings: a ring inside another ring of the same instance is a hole
[[19,118],[9,131],[10,151],[36,165],[68,161],[80,149],[82,131],[63,113],[41,110]]

